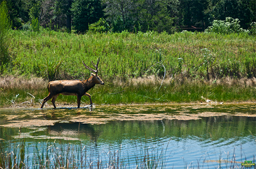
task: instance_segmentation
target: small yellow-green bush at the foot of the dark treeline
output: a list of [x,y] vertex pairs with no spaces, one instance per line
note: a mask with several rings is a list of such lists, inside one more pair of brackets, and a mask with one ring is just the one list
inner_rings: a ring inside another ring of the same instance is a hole
[[89,31],[93,33],[106,33],[110,31],[110,26],[104,18],[100,18],[98,22],[89,25]]

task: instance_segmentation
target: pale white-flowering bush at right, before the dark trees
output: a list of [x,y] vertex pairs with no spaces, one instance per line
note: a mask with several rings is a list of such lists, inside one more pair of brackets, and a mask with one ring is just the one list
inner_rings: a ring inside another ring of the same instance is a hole
[[226,20],[214,20],[213,26],[206,29],[206,32],[231,34],[231,33],[248,33],[248,30],[241,28],[240,21],[232,17],[226,17]]

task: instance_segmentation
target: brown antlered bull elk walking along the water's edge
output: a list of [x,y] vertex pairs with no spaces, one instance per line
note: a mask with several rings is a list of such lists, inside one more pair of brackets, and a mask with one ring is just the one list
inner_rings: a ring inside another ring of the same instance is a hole
[[[98,76],[98,65],[100,62],[100,58],[98,59],[97,64],[95,65],[92,61],[93,67],[96,68],[96,70],[89,68],[86,64],[83,63],[84,67],[86,67],[88,70],[93,71],[95,74],[91,73],[92,76],[90,76],[87,80],[56,80],[48,83],[48,96],[43,99],[43,103],[41,108],[43,108],[43,105],[48,100],[52,99],[53,107],[55,106],[55,100],[58,97],[59,94],[62,95],[76,95],[77,96],[77,108],[80,107],[80,101],[83,95],[87,95],[90,98],[90,94],[86,93],[89,89],[93,88],[95,84],[104,85],[104,82],[100,79]],[[90,105],[93,105],[92,99],[90,98]]]

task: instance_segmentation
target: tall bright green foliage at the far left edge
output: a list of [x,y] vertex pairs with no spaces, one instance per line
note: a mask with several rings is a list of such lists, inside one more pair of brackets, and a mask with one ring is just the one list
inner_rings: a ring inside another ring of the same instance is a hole
[[2,74],[5,65],[10,61],[7,38],[12,25],[5,1],[0,4],[0,18],[0,73]]

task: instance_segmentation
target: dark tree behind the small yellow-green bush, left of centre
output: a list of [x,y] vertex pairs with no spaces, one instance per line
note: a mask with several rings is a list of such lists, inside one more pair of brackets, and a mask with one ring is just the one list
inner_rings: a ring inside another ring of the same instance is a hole
[[88,30],[88,25],[103,17],[100,0],[77,0],[72,4],[73,25],[79,33]]

